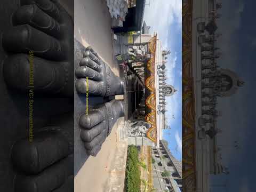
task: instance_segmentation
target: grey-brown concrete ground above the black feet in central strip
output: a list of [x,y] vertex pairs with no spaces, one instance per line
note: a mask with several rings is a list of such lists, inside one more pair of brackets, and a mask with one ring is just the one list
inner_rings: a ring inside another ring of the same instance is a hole
[[116,68],[111,18],[106,0],[75,0],[74,8],[74,35],[77,41],[92,46],[111,68]]

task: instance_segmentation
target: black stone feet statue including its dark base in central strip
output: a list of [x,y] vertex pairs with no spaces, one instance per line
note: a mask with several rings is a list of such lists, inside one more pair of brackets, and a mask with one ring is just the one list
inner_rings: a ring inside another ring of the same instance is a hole
[[[124,84],[92,47],[76,39],[74,43],[76,174],[90,155],[99,153],[117,118],[124,116],[123,101],[110,101],[110,96],[124,94]],[[92,124],[94,120],[98,123]]]

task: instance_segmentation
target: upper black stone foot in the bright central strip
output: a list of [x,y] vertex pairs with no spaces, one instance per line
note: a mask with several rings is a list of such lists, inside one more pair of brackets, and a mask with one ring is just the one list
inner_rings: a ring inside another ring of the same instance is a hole
[[88,92],[89,95],[102,97],[124,94],[124,82],[111,71],[91,47],[86,47],[75,74],[78,93]]

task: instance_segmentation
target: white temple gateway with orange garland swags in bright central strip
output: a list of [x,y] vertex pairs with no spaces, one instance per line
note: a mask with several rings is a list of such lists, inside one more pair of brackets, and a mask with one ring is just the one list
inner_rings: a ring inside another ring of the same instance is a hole
[[[156,146],[166,129],[166,97],[177,90],[166,84],[167,55],[157,35],[133,33],[123,37],[125,125],[128,145]],[[171,109],[170,109],[171,110]]]

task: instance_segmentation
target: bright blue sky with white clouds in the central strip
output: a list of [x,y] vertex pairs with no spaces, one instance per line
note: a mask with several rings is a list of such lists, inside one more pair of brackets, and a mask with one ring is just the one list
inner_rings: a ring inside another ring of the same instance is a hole
[[[149,0],[147,0],[147,3]],[[181,160],[182,134],[181,134],[181,0],[150,1],[146,5],[144,20],[151,26],[150,33],[158,34],[163,49],[170,50],[166,64],[167,84],[173,85],[178,90],[167,102],[167,124],[171,130],[163,132],[164,139],[169,142],[169,148],[174,157]],[[172,118],[174,115],[175,118]],[[175,148],[177,150],[175,150]]]

